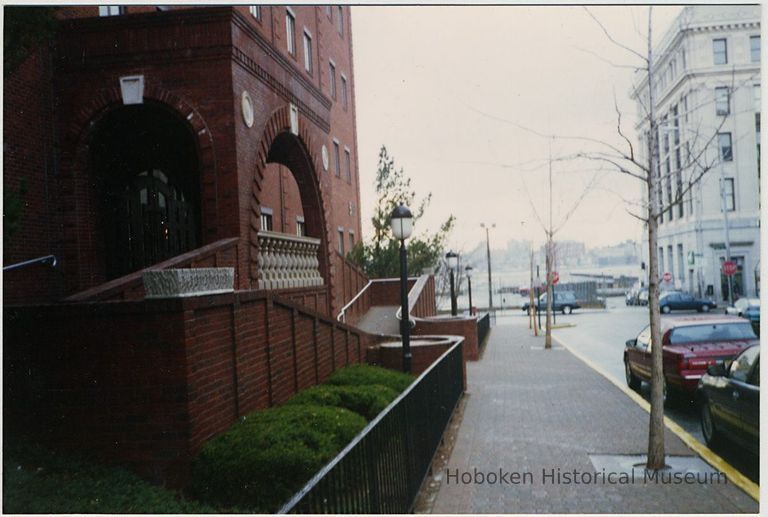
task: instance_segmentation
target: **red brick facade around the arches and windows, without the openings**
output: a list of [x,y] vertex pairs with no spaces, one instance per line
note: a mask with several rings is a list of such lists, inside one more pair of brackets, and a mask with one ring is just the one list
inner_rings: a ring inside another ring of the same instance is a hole
[[[252,197],[257,193],[258,198],[263,190],[258,176],[269,153],[270,141],[265,139],[268,125],[289,101],[299,105],[302,127],[299,138],[305,149],[294,152],[292,159],[303,160],[304,165],[299,167],[301,171],[294,170],[287,177],[295,178],[294,181],[305,187],[310,185],[306,187],[310,195],[302,194],[304,199],[300,203],[301,185],[294,189],[291,184],[284,189],[282,204],[287,208],[280,214],[285,220],[281,227],[287,233],[294,233],[295,216],[302,211],[307,220],[313,219],[321,225],[316,225],[315,235],[310,236],[324,241],[322,268],[328,284],[333,287],[335,276],[342,274],[332,267],[331,252],[336,248],[337,228],[344,228],[346,249],[349,249],[350,230],[356,240],[360,238],[349,8],[342,8],[345,13],[343,36],[325,16],[324,7],[296,6],[293,10],[297,20],[295,57],[285,48],[284,6],[262,6],[261,21],[248,13],[247,6],[174,7],[164,13],[155,12],[151,6],[129,6],[128,13],[138,14],[103,18],[97,17],[96,6],[60,10],[61,17],[78,19],[62,23],[55,73],[44,60],[31,60],[24,65],[31,71],[6,78],[4,171],[6,187],[18,183],[26,174],[34,176],[30,203],[39,204],[40,193],[45,191],[40,186],[45,185],[42,171],[46,169],[41,166],[45,164],[35,160],[45,156],[40,152],[40,143],[51,138],[44,135],[43,130],[52,131],[51,120],[59,122],[61,152],[47,162],[61,163],[57,183],[47,189],[47,192],[56,192],[55,200],[45,207],[30,207],[36,220],[30,220],[25,235],[34,242],[12,244],[12,248],[6,246],[5,255],[6,261],[12,261],[16,257],[44,255],[53,249],[60,269],[48,273],[52,279],[45,282],[40,282],[40,270],[9,276],[6,284],[13,289],[6,289],[7,301],[54,300],[62,294],[105,281],[103,234],[107,230],[101,226],[100,192],[94,188],[98,178],[92,176],[89,168],[88,143],[93,136],[94,122],[121,104],[118,78],[137,73],[143,74],[147,82],[145,98],[165,104],[180,118],[188,120],[190,132],[197,139],[201,162],[201,244],[226,237],[239,237],[244,243],[253,243],[252,232],[258,230],[258,211],[254,210]],[[334,7],[334,16],[335,13]],[[303,67],[304,27],[313,38],[311,73]],[[329,59],[336,62],[339,74],[336,100],[330,98]],[[250,64],[243,65],[243,60]],[[347,78],[346,108],[340,97],[341,73]],[[46,97],[44,91],[51,84],[57,88],[55,113],[49,109],[51,94],[48,92]],[[243,90],[253,99],[252,128],[245,126],[241,116]],[[341,178],[333,175],[333,138],[341,143],[342,158],[344,146],[350,149],[352,177],[349,181],[343,171]],[[264,144],[267,147],[260,148]],[[319,165],[323,145],[331,154],[330,172]],[[35,152],[31,153],[33,149]],[[33,159],[25,160],[27,155]],[[25,164],[28,171],[24,169]],[[311,186],[315,182],[319,190]],[[262,196],[264,202],[277,204],[274,187],[267,185],[266,188]],[[313,214],[307,214],[308,210]],[[46,237],[42,231],[42,222],[50,220],[54,221],[49,225],[53,226],[54,237]],[[239,288],[254,287],[254,259],[253,252],[238,257]],[[334,309],[340,308],[342,300],[336,299],[336,291],[331,293],[328,304]]]

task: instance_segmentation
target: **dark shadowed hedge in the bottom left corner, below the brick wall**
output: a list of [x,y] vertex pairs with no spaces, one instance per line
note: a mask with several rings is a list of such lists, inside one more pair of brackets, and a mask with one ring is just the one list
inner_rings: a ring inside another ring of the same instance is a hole
[[118,467],[6,440],[4,513],[215,513]]

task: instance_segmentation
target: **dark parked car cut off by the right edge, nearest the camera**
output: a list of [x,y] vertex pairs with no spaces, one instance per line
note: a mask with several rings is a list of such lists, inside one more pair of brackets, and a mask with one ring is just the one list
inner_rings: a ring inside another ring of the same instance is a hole
[[744,350],[728,367],[710,366],[696,393],[707,445],[716,446],[725,438],[759,454],[759,345]]

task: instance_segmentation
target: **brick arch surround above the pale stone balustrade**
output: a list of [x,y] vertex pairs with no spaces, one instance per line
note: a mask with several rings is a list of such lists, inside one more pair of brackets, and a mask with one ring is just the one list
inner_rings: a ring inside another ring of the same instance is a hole
[[[311,197],[313,199],[307,199],[307,191],[301,192],[301,202],[304,207],[304,217],[309,222],[309,218],[317,217],[318,225],[321,228],[320,234],[320,273],[326,280],[326,287],[328,287],[329,296],[333,296],[332,286],[332,268],[331,268],[331,253],[330,243],[332,242],[331,229],[328,227],[328,221],[330,215],[326,205],[326,194],[322,182],[320,181],[317,171],[322,171],[320,160],[318,158],[317,146],[315,139],[313,138],[309,130],[309,122],[299,114],[299,134],[295,135],[301,150],[303,151],[303,157],[297,157],[297,162],[302,158],[306,159],[307,167],[288,167],[291,173],[294,175],[297,183],[305,183],[311,189]],[[278,138],[285,134],[290,133],[291,119],[290,119],[290,107],[288,105],[278,108],[267,120],[262,131],[261,140],[257,146],[256,157],[256,171],[253,175],[253,183],[251,189],[251,216],[250,216],[250,276],[252,282],[256,281],[258,274],[258,248],[259,239],[258,231],[261,227],[260,221],[260,206],[261,206],[261,191],[264,181],[264,173],[267,163],[270,163],[270,151],[273,144]],[[301,191],[301,188],[300,188]],[[308,213],[308,209],[313,213]],[[331,300],[332,302],[332,300]],[[330,303],[329,307],[333,304]]]

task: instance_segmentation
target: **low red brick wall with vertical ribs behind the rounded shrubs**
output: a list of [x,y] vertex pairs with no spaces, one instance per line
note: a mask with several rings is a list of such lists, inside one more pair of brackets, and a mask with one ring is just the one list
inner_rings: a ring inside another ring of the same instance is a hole
[[177,486],[205,441],[370,339],[263,292],[6,308],[4,331],[6,429]]

